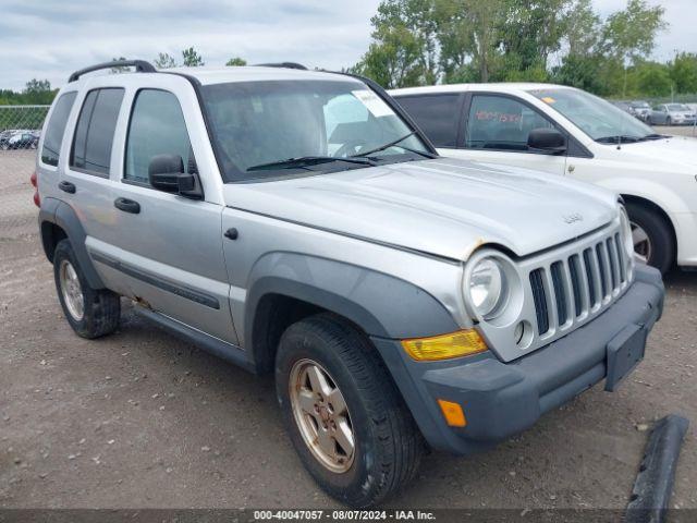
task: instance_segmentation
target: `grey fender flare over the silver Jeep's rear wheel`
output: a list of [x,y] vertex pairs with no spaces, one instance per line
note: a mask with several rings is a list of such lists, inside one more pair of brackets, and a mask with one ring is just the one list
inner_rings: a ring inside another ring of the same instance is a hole
[[41,200],[41,208],[39,209],[41,244],[44,245],[46,257],[52,263],[53,251],[58,242],[54,238],[53,228],[46,227],[47,224],[58,226],[65,232],[89,287],[95,290],[106,289],[87,252],[87,246],[85,245],[87,234],[75,210],[66,203],[57,198],[45,198]]

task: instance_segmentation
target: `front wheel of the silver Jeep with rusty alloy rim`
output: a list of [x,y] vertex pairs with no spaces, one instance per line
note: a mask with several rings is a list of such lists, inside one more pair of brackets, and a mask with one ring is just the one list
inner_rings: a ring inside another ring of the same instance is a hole
[[424,441],[375,346],[320,314],[283,333],[277,397],[301,461],[333,498],[374,506],[408,483]]

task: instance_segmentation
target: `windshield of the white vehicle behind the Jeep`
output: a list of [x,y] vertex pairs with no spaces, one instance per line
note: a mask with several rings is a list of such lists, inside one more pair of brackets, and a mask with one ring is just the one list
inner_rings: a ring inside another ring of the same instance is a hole
[[641,139],[653,135],[648,125],[589,93],[570,88],[536,89],[529,93],[571,120],[592,139],[616,136],[623,139]]

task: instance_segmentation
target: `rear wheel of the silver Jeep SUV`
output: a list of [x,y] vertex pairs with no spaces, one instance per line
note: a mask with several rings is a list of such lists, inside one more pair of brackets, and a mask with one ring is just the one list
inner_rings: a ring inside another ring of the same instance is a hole
[[119,295],[89,287],[69,240],[56,246],[53,276],[63,314],[77,336],[93,339],[117,330],[121,318]]

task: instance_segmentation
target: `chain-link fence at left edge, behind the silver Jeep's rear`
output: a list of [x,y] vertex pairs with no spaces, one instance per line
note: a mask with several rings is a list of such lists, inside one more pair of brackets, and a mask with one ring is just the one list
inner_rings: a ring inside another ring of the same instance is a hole
[[49,106],[0,106],[0,246],[36,232],[29,177]]

